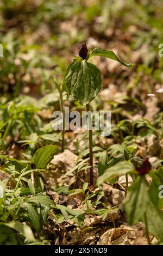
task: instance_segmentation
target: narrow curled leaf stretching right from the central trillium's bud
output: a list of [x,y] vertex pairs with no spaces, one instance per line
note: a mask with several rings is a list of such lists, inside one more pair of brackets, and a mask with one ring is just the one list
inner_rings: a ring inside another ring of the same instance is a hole
[[108,51],[108,50],[98,50],[97,48],[93,49],[93,51],[90,54],[90,57],[93,56],[102,56],[102,57],[106,57],[109,59],[113,59],[116,60],[117,62],[120,62],[123,66],[133,66],[133,63],[124,63],[122,62],[113,51]]

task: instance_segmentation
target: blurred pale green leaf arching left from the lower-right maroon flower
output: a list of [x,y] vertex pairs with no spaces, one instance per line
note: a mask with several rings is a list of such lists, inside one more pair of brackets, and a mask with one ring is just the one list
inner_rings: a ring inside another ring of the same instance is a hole
[[97,185],[103,184],[105,181],[109,181],[117,176],[124,175],[126,173],[134,172],[135,167],[132,163],[121,162],[117,163],[115,166],[112,166],[105,170],[105,173],[97,179]]

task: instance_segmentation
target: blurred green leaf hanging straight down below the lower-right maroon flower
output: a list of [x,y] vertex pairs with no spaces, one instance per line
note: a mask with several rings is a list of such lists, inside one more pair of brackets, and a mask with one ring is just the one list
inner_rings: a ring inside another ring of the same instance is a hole
[[124,210],[128,216],[129,225],[141,221],[149,203],[148,187],[142,176],[137,176],[129,187],[124,200]]

